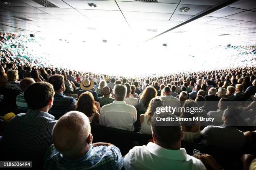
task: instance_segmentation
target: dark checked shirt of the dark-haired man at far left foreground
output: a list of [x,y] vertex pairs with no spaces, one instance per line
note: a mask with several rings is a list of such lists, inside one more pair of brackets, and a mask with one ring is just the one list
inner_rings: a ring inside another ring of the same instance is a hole
[[28,110],[13,117],[5,128],[1,142],[3,153],[43,157],[53,143],[51,135],[56,120],[47,112]]

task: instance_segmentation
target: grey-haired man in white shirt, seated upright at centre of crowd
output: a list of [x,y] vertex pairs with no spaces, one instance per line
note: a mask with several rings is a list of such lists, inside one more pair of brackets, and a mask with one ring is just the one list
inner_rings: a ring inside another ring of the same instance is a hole
[[101,108],[100,125],[123,130],[134,130],[133,124],[137,120],[137,110],[134,106],[128,105],[123,101],[126,90],[125,85],[115,85],[113,95],[115,101]]

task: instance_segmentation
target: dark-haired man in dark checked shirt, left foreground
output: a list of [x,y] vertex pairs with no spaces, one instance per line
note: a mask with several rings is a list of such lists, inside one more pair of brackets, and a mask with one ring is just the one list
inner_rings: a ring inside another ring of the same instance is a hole
[[10,155],[12,160],[41,160],[53,143],[51,134],[56,120],[48,111],[53,105],[54,88],[48,82],[36,82],[26,88],[24,98],[28,111],[8,123],[1,139],[1,154]]

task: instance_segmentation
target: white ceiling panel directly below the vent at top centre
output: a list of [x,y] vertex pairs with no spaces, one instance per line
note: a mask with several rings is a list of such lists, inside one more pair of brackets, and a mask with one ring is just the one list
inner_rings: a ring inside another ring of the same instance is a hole
[[151,3],[151,2],[121,2],[118,6],[122,11],[138,11],[148,13],[173,13],[177,4]]

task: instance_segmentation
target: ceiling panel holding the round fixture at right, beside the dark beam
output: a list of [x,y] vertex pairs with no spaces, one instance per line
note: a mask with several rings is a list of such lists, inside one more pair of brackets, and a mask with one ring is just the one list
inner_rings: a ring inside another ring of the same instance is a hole
[[[180,12],[179,9],[181,7],[189,7],[190,10],[186,13]],[[175,10],[174,14],[186,14],[186,15],[197,15],[198,13],[201,13],[202,11],[206,10],[211,6],[206,5],[185,5],[185,4],[179,4],[177,9]]]

